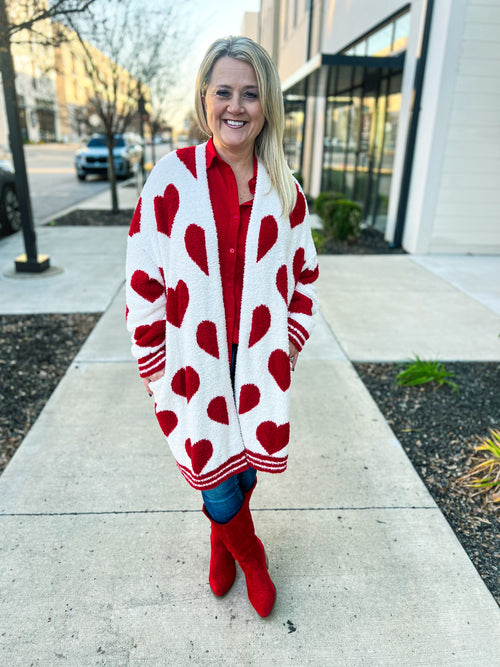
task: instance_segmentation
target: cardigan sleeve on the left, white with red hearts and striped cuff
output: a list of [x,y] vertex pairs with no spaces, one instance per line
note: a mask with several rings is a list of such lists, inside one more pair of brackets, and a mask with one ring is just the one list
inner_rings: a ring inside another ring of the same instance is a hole
[[159,266],[158,232],[147,184],[135,209],[127,243],[126,318],[139,375],[150,377],[165,367],[166,295]]

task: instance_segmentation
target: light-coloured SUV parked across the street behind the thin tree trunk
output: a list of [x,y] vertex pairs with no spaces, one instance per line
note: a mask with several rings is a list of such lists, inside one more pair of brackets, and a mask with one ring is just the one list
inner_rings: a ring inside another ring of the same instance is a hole
[[[138,134],[115,134],[113,162],[117,178],[128,178],[138,169],[143,154],[142,139]],[[94,134],[87,145],[75,156],[76,175],[84,181],[87,174],[108,173],[108,146],[106,135]]]

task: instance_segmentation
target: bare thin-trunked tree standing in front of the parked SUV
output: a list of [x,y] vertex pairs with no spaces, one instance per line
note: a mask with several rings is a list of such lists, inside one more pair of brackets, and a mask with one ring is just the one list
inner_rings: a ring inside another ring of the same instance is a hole
[[[66,21],[80,42],[92,82],[91,105],[106,135],[113,211],[118,211],[114,137],[139,115],[141,121],[147,120],[150,88],[172,78],[180,53],[189,48],[185,37],[176,39],[185,27],[182,12],[186,4],[181,8],[175,0],[161,0],[154,6],[141,6],[137,0],[96,0],[86,12]],[[101,53],[109,58],[106,68],[99,66]],[[143,108],[139,108],[140,100]]]

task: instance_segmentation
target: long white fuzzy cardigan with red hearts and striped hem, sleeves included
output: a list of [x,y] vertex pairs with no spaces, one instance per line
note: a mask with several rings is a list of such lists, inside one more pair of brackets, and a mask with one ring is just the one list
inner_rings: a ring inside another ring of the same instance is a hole
[[[127,327],[132,354],[151,383],[155,413],[177,465],[196,489],[252,466],[286,468],[290,338],[302,347],[316,297],[305,270],[317,258],[305,198],[283,217],[263,164],[248,227],[234,394],[206,144],[166,155],[155,166],[132,219],[127,250]],[[294,290],[312,302],[289,313]]]

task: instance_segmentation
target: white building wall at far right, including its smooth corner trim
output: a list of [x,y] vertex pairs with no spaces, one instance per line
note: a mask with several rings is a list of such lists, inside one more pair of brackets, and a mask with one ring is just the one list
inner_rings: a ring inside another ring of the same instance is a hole
[[403,247],[500,252],[500,7],[434,6]]

